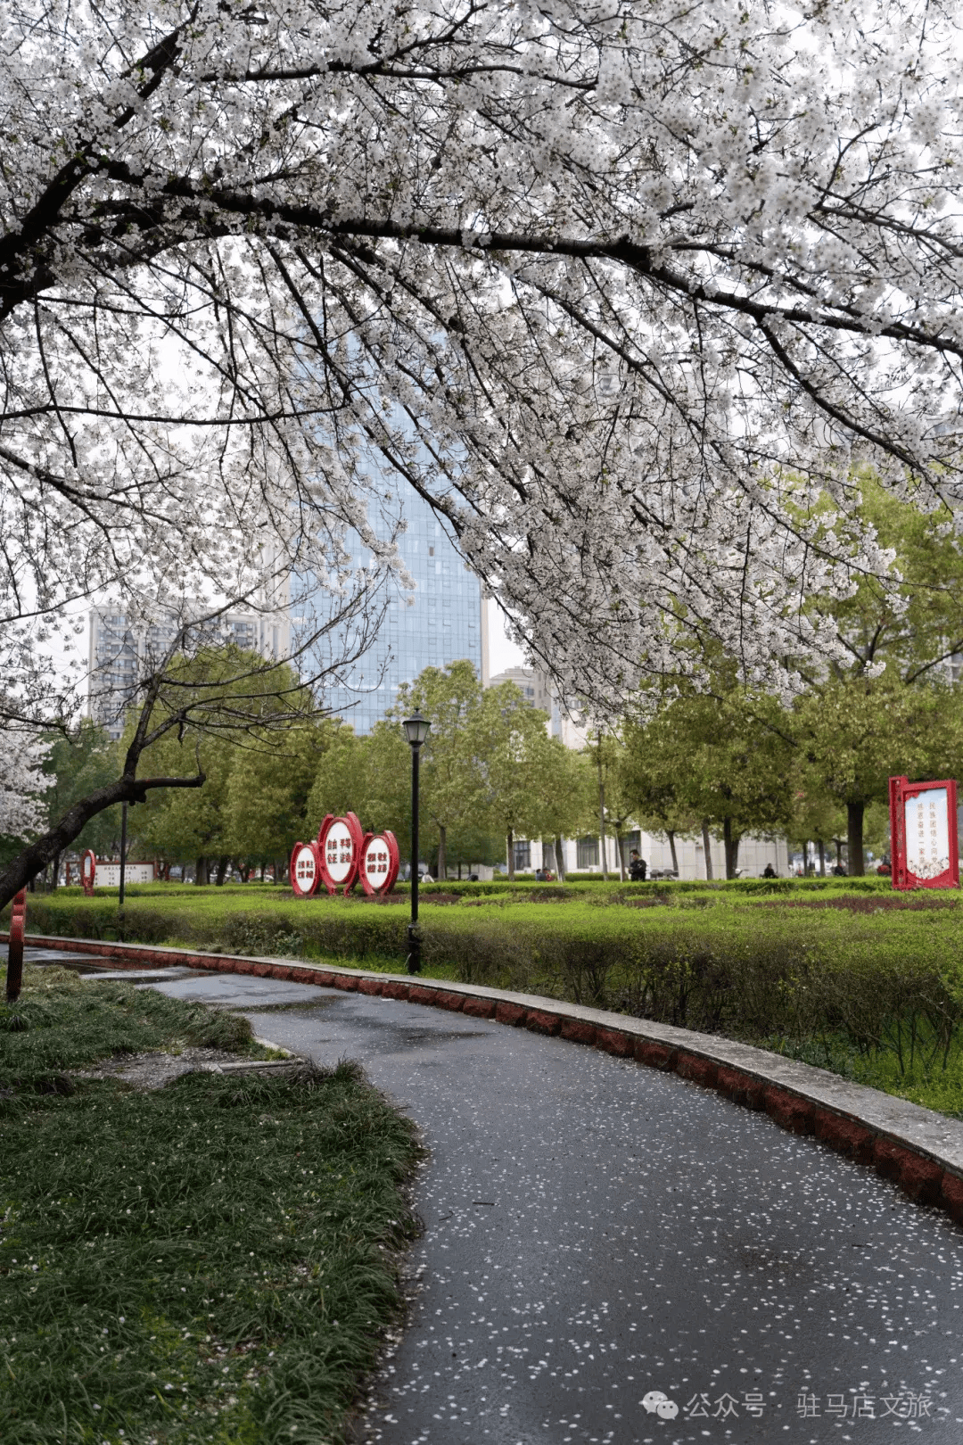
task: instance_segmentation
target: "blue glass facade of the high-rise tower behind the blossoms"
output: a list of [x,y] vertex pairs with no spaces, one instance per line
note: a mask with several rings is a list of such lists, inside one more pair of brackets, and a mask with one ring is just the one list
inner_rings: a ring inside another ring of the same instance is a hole
[[355,733],[370,733],[394,705],[398,686],[423,668],[468,657],[481,676],[481,585],[449,542],[435,513],[414,493],[404,499],[407,530],[398,540],[414,592],[391,585],[381,631],[325,704]]

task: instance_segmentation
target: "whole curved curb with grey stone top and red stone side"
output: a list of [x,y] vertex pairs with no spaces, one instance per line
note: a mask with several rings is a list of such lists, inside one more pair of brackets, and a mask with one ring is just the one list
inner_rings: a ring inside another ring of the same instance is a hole
[[[6,941],[7,936],[0,933],[0,942]],[[414,980],[407,974],[368,972],[306,961],[282,962],[276,958],[36,933],[27,935],[25,945],[95,954],[128,968],[180,965],[358,991],[560,1036],[616,1058],[634,1059],[647,1068],[679,1074],[735,1104],[764,1111],[783,1129],[811,1134],[853,1162],[875,1168],[910,1199],[936,1205],[956,1224],[963,1224],[963,1121],[748,1043],[537,994],[515,994],[450,980]]]

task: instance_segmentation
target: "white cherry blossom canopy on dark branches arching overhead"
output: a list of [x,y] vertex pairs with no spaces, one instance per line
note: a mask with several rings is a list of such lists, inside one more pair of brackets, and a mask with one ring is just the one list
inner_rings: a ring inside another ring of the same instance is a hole
[[803,598],[891,561],[853,458],[956,526],[959,43],[940,0],[10,0],[10,696],[104,588],[336,595],[347,527],[397,569],[398,481],[599,711],[705,639],[791,686]]

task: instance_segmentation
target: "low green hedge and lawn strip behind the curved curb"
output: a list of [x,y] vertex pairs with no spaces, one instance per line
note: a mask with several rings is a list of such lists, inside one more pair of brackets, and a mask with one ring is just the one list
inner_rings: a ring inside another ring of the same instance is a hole
[[[424,889],[426,974],[745,1039],[963,1117],[963,903],[886,879],[449,883]],[[131,892],[124,936],[400,971],[409,897]],[[116,938],[117,896],[32,899],[38,932]]]

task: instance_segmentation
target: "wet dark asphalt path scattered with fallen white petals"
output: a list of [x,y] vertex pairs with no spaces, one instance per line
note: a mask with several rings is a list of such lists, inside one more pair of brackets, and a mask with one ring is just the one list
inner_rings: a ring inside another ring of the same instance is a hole
[[963,1439],[963,1233],[871,1170],[562,1039],[273,980],[153,987],[358,1059],[423,1131],[422,1287],[372,1441]]

